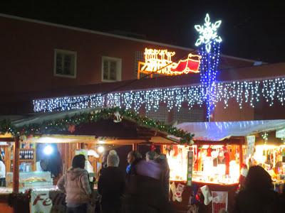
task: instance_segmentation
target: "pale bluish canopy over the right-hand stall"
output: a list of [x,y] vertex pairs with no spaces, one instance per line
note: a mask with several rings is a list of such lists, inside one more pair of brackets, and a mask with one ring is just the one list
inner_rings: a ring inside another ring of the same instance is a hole
[[178,124],[176,127],[187,132],[195,133],[194,140],[223,141],[232,136],[248,136],[264,131],[284,129],[285,120],[185,122]]

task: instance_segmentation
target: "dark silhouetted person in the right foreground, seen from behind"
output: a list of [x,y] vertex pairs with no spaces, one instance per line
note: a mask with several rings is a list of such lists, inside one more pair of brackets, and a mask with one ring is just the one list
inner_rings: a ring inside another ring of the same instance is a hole
[[276,211],[277,192],[274,192],[271,176],[259,165],[249,168],[244,190],[236,197],[234,213],[270,213]]

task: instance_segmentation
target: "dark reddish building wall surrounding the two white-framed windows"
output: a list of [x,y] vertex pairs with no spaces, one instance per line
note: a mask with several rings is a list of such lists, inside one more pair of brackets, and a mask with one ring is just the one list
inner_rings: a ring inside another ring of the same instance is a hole
[[[160,46],[147,40],[115,38],[71,28],[0,16],[0,92],[47,91],[101,82],[102,56],[122,59],[122,80],[133,80],[135,51],[163,48],[175,51],[173,60],[187,57],[190,49]],[[194,35],[193,35],[194,36]],[[76,51],[76,79],[53,76],[54,49]],[[252,61],[228,58],[233,67]]]

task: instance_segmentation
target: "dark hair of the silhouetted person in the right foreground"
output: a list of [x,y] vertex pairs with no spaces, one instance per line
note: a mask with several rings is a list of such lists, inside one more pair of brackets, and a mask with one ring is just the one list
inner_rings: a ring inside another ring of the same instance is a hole
[[247,178],[245,180],[246,190],[271,190],[273,188],[271,176],[259,165],[249,168]]

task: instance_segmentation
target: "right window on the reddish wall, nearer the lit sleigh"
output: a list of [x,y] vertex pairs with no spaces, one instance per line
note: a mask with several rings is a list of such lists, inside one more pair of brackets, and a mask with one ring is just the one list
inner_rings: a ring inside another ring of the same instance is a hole
[[102,57],[102,81],[117,82],[121,80],[122,60],[120,58]]

